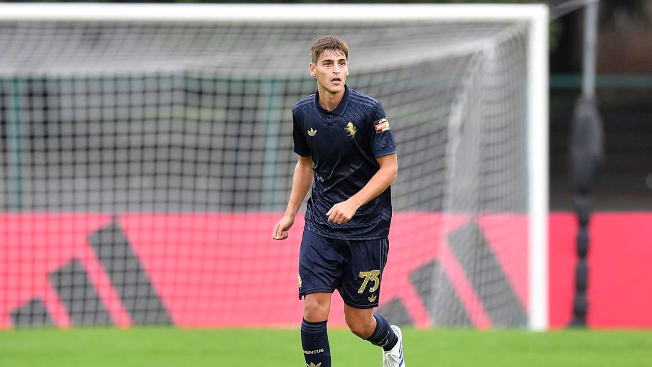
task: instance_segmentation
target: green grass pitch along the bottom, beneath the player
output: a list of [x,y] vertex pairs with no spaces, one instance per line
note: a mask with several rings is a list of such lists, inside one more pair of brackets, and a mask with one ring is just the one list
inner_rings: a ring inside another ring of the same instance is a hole
[[[380,350],[330,330],[333,366],[379,367]],[[409,367],[652,366],[652,332],[404,330]],[[299,330],[76,328],[0,331],[0,366],[303,367]]]

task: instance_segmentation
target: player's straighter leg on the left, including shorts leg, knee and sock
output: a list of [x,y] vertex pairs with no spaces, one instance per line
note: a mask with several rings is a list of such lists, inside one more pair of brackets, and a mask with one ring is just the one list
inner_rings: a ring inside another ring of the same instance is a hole
[[331,367],[327,320],[344,257],[333,241],[304,231],[299,251],[299,298],[304,297],[301,345],[308,367]]

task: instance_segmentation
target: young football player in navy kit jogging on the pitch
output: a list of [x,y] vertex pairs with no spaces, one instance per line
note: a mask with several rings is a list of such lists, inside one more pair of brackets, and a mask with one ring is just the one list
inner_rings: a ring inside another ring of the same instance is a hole
[[394,136],[381,103],[346,86],[348,45],[326,36],[310,52],[317,92],[292,109],[299,162],[288,209],[273,232],[274,240],[288,238],[314,176],[299,255],[306,366],[331,367],[326,323],[337,289],[351,332],[383,347],[383,366],[404,367],[400,329],[373,313],[389,249]]

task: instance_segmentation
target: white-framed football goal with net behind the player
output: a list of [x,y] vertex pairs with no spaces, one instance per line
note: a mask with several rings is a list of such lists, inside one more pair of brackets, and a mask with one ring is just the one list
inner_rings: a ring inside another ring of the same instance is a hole
[[271,233],[328,34],[398,146],[377,311],[545,327],[546,8],[332,10],[0,5],[0,328],[298,325],[303,215]]

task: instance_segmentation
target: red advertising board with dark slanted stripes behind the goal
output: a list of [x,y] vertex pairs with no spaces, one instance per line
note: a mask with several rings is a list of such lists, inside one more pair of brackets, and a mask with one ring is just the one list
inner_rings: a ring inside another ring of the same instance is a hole
[[[82,296],[101,306],[95,317],[106,313],[107,323],[119,327],[147,323],[139,309],[143,307],[150,313],[152,308],[160,310],[165,315],[159,320],[179,327],[295,327],[303,304],[297,298],[303,222],[297,220],[288,240],[278,242],[271,239],[278,217],[276,213],[0,215],[0,328],[15,326],[16,315],[34,302],[42,305],[53,325],[84,323],[87,315],[72,310]],[[647,225],[651,220],[647,213],[593,217],[591,327],[652,327],[652,293],[645,291],[652,263],[652,229]],[[459,249],[452,240],[438,240],[470,221],[464,215],[395,214],[381,308],[399,302],[413,325],[437,326],[413,277],[437,262],[469,311],[469,323],[492,326],[494,316],[475,291]],[[526,217],[486,214],[473,223],[499,264],[514,302],[527,310]],[[550,215],[554,328],[565,327],[571,319],[575,223],[572,214]],[[102,241],[111,247],[103,247]],[[124,249],[114,246],[118,242],[125,242]],[[136,283],[125,278],[128,272],[135,274]],[[80,282],[85,293],[71,291],[72,284]],[[134,300],[134,289],[148,295],[147,305]],[[329,325],[344,326],[342,300],[337,293],[333,299]]]

